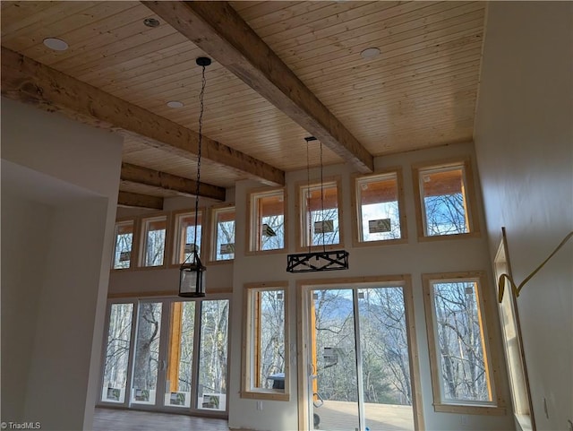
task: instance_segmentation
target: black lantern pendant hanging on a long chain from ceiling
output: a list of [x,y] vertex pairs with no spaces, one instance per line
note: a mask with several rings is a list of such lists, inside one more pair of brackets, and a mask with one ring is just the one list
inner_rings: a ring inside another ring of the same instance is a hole
[[199,139],[197,151],[197,182],[195,189],[195,228],[193,237],[192,252],[187,256],[184,263],[179,268],[179,296],[180,297],[204,297],[205,296],[205,272],[207,268],[201,263],[199,253],[197,253],[197,214],[199,213],[199,184],[201,180],[201,142],[203,139],[203,98],[205,96],[205,67],[211,64],[208,57],[200,56],[195,60],[197,65],[202,67],[201,73],[201,93],[199,96],[201,111],[199,115]]

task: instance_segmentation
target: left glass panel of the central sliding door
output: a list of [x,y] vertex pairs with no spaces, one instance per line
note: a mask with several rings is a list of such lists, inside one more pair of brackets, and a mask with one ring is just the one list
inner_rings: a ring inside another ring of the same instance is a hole
[[360,429],[352,289],[312,290],[313,427]]

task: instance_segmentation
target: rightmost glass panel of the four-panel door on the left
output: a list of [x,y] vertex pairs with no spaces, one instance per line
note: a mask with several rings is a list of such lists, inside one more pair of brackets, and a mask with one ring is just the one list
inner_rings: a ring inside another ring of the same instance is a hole
[[201,341],[197,409],[227,409],[229,301],[201,301]]

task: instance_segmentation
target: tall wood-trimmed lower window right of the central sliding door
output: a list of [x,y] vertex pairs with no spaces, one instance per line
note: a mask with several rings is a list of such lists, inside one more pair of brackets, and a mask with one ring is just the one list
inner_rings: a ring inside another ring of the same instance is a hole
[[493,384],[483,273],[426,274],[423,284],[434,408],[495,413],[501,401]]

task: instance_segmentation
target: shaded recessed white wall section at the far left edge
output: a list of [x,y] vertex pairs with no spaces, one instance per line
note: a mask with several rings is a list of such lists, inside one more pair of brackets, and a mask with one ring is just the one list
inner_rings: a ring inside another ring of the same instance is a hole
[[2,418],[19,422],[24,420],[52,210],[13,196],[2,185],[2,224],[10,226],[2,230]]

